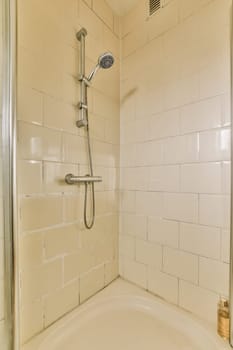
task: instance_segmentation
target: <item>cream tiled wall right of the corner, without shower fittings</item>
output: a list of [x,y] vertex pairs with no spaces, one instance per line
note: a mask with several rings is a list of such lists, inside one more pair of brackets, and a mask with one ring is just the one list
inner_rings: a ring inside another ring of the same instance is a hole
[[120,273],[216,320],[228,296],[230,0],[122,19]]

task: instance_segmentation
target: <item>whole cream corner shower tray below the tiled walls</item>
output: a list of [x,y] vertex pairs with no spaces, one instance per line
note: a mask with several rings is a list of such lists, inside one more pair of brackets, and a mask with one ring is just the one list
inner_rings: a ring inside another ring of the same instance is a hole
[[224,350],[228,343],[189,313],[121,279],[23,350]]

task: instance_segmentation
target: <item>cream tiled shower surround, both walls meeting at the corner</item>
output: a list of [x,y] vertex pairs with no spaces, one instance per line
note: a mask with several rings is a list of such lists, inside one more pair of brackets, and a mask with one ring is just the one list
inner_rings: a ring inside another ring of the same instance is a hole
[[[118,276],[118,239],[121,276],[169,302],[214,322],[228,296],[231,1],[162,4],[119,18],[104,0],[19,0],[22,343]],[[64,183],[88,171],[75,126],[82,26],[87,71],[104,51],[116,59],[88,90],[104,180],[91,231],[83,188]]]

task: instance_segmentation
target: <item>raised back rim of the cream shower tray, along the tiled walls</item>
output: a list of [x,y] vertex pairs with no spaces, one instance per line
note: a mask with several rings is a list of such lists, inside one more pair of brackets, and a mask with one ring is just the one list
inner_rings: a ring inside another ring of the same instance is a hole
[[[22,345],[22,350],[41,350],[40,346],[43,345],[48,338],[53,338],[59,329],[62,329],[66,323],[71,322],[73,319],[81,316],[83,313],[88,313],[92,307],[96,310],[101,305],[108,304],[113,300],[120,300],[128,298],[128,301],[132,303],[131,298],[134,301],[147,300],[149,303],[153,303],[163,307],[167,310],[171,310],[172,314],[178,313],[181,318],[188,319],[191,323],[193,322],[197,328],[208,335],[208,339],[216,343],[219,350],[230,350],[232,349],[230,344],[221,339],[217,333],[213,324],[204,321],[191,312],[188,312],[177,305],[171,304],[160,297],[153,295],[152,293],[134,285],[131,282],[125,281],[122,278],[117,278],[103,290],[99,291],[94,296],[83,302],[81,305],[71,310],[69,313],[64,315],[58,321],[53,323],[51,326],[46,328],[44,331],[35,335],[27,343]],[[42,349],[43,350],[43,349]],[[207,349],[208,350],[208,349]]]

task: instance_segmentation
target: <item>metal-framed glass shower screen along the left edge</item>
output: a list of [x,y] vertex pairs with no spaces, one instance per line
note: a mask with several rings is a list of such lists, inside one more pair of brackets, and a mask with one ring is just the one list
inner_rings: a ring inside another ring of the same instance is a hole
[[0,349],[16,349],[15,198],[15,0],[0,0]]

